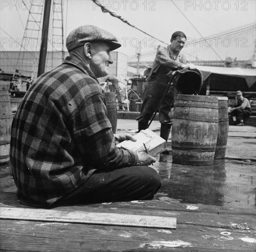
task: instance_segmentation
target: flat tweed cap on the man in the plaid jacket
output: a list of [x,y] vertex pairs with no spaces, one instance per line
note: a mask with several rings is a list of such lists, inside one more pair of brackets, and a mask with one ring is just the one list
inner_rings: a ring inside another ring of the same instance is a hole
[[71,51],[83,46],[87,42],[106,42],[111,50],[121,46],[118,43],[118,39],[112,33],[94,25],[83,25],[68,34],[66,47],[68,51]]

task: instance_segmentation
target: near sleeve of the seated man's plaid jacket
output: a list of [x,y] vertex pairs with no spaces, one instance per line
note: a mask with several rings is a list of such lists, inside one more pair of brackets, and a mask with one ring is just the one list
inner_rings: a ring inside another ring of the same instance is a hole
[[95,168],[119,168],[137,163],[136,154],[115,146],[102,92],[86,100],[72,118],[72,128],[80,153]]

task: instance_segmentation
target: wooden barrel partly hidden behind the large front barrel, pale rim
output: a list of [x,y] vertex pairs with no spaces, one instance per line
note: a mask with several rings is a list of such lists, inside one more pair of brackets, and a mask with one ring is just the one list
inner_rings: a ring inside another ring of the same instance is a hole
[[225,158],[228,142],[228,97],[218,97],[219,129],[214,159]]

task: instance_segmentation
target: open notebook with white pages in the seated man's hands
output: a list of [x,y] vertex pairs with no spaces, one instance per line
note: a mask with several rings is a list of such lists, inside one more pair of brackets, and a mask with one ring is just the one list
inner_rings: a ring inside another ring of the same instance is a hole
[[123,142],[120,142],[116,146],[119,148],[124,148],[135,152],[146,152],[143,145],[143,143],[145,143],[150,156],[155,156],[166,149],[165,139],[159,137],[150,129],[142,130],[133,137],[137,139],[136,142],[133,142],[131,140],[125,140]]

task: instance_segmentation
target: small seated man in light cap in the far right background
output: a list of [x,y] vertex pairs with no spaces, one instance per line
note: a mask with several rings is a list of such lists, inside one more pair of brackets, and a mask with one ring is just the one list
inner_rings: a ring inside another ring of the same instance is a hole
[[233,117],[233,125],[237,126],[244,126],[244,119],[251,115],[250,102],[243,97],[243,93],[240,90],[236,92],[236,103],[230,110],[230,115]]

